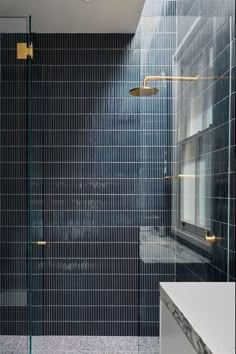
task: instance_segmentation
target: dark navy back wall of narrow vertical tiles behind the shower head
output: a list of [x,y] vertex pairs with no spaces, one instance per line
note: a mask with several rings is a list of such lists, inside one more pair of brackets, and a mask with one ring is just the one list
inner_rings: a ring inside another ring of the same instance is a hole
[[[159,281],[173,280],[175,266],[168,250],[154,258],[148,240],[170,227],[173,98],[165,84],[154,98],[128,91],[147,74],[171,75],[174,14],[174,2],[150,1],[135,35],[33,35],[33,240],[47,242],[33,246],[33,334],[158,335]],[[2,252],[12,252],[3,262],[28,284],[27,70],[17,40],[2,35],[1,230]],[[25,306],[5,306],[2,332],[28,333],[28,318]]]

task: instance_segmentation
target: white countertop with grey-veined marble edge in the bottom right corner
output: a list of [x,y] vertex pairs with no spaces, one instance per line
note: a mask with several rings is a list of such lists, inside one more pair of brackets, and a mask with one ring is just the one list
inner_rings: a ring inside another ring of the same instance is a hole
[[161,299],[197,353],[235,354],[235,283],[161,283]]

